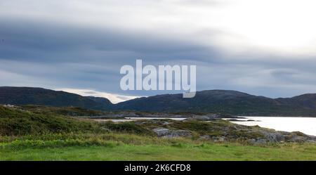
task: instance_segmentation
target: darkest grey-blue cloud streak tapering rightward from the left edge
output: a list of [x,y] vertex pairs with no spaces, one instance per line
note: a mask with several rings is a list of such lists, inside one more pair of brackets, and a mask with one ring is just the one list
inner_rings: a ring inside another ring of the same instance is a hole
[[[122,33],[113,30],[93,29],[46,23],[42,21],[0,20],[0,34],[5,36],[1,58],[27,59],[53,62],[65,60],[110,59],[111,56],[132,59],[146,56],[152,59],[192,58],[206,52],[197,44],[154,35]],[[200,54],[199,54],[200,53]],[[150,56],[152,57],[150,57]],[[88,58],[88,56],[93,56]],[[116,58],[116,59],[117,59]]]

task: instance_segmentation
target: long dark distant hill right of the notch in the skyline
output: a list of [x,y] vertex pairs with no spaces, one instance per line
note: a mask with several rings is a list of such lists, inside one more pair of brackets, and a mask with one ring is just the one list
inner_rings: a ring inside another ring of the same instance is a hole
[[239,91],[198,91],[194,98],[165,94],[118,103],[116,110],[157,112],[220,112],[254,116],[316,116],[316,94],[294,98],[267,98]]

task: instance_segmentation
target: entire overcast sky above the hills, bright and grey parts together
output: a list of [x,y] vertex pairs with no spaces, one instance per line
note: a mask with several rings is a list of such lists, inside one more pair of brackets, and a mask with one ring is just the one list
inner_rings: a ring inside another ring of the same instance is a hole
[[313,0],[0,1],[0,86],[114,103],[182,91],[122,91],[119,69],[197,65],[197,90],[316,93]]

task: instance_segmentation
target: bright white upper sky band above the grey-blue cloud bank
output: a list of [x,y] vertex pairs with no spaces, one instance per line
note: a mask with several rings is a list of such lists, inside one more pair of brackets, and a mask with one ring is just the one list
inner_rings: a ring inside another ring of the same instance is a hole
[[154,33],[220,46],[225,52],[316,55],[315,0],[32,0],[0,5],[7,6],[0,7],[3,16]]

